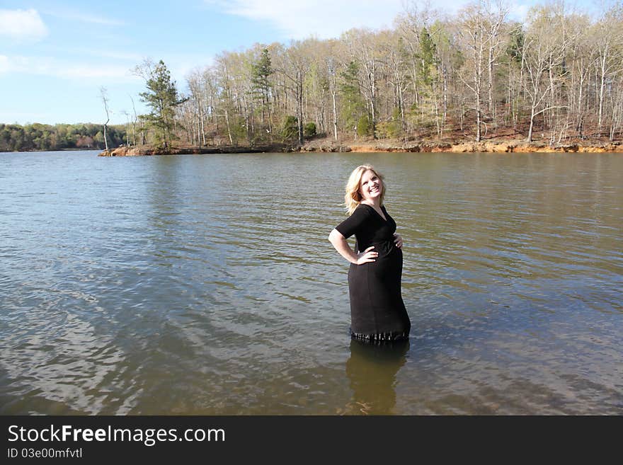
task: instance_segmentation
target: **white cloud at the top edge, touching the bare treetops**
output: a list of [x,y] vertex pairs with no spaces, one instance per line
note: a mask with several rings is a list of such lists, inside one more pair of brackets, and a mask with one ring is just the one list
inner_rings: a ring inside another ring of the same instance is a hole
[[288,38],[337,38],[351,28],[390,27],[404,0],[208,0],[226,13],[268,21]]

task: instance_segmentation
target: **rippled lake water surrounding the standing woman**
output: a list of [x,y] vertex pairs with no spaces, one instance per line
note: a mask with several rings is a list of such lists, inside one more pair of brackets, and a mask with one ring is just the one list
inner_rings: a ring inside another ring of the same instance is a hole
[[[407,344],[348,336],[361,163]],[[622,414],[622,154],[0,154],[1,414]]]

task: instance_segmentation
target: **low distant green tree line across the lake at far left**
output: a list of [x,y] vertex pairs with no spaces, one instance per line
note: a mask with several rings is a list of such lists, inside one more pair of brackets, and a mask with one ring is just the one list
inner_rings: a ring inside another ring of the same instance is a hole
[[[108,143],[126,143],[124,126],[108,127]],[[4,125],[0,124],[0,151],[103,149],[103,128],[95,124]]]

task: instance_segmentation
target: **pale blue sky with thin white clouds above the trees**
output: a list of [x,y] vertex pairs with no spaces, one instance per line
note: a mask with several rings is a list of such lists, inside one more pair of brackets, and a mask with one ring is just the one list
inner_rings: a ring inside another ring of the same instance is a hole
[[[144,81],[132,68],[162,59],[178,89],[224,51],[351,28],[390,28],[412,0],[0,0],[0,123],[125,124]],[[455,13],[469,0],[444,0]],[[532,4],[508,0],[521,20]],[[593,0],[576,0],[594,8]],[[438,5],[437,2],[432,3]]]

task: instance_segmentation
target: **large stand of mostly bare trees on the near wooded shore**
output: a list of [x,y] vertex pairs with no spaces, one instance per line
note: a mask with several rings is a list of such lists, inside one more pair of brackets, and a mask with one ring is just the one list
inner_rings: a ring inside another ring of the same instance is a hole
[[[331,139],[481,139],[557,144],[621,136],[623,8],[598,18],[564,2],[510,21],[503,2],[448,16],[406,6],[388,30],[222,52],[178,93],[163,62],[137,67],[159,142],[194,145]],[[151,99],[151,100],[150,100]],[[134,124],[134,123],[133,123]]]

